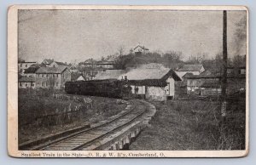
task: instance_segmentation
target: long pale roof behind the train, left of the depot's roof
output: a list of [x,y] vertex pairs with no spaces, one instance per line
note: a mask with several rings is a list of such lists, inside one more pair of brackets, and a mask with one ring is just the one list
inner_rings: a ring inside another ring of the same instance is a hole
[[118,79],[123,73],[125,73],[124,70],[106,70],[96,74],[95,80]]

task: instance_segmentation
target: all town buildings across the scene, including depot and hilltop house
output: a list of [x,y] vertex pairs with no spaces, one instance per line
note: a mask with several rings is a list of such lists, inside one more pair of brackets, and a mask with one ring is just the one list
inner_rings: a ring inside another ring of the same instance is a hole
[[[148,48],[137,46],[135,54]],[[131,93],[147,100],[170,100],[188,95],[221,94],[221,75],[205,70],[204,66],[183,65],[176,71],[158,63],[149,63],[126,70],[116,70],[114,60],[85,60],[79,65],[55,60],[19,63],[19,88],[62,89],[67,81],[128,80]],[[246,67],[229,67],[227,92],[245,90]]]

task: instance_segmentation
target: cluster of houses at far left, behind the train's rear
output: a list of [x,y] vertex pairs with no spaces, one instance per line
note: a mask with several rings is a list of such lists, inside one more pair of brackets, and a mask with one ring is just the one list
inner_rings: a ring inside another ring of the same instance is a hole
[[96,74],[113,69],[113,61],[85,60],[80,65],[67,65],[55,60],[18,63],[19,88],[64,88],[68,81],[93,80]]

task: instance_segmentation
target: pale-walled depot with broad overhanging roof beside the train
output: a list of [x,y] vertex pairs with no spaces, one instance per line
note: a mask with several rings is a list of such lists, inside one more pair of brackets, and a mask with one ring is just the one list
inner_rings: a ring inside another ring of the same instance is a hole
[[175,96],[175,82],[181,81],[175,71],[159,64],[141,65],[119,76],[127,80],[132,94],[147,100],[162,101]]

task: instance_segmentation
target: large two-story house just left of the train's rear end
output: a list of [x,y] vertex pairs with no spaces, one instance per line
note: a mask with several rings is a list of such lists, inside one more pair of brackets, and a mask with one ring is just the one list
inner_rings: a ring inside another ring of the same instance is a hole
[[71,81],[71,72],[66,66],[40,67],[36,71],[36,88],[64,88]]

